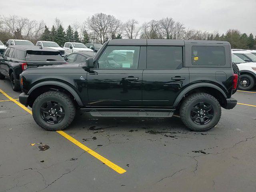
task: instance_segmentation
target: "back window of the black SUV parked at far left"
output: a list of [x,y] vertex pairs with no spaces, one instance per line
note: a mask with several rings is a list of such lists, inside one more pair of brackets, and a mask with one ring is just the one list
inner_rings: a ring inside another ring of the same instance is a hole
[[60,52],[52,51],[26,51],[26,60],[30,61],[63,61]]

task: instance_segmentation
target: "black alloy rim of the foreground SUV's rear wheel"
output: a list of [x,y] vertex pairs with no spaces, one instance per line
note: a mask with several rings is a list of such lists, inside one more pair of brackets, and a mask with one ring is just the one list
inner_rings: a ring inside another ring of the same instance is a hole
[[196,104],[190,111],[190,118],[198,125],[208,124],[212,120],[213,115],[213,107],[206,102]]

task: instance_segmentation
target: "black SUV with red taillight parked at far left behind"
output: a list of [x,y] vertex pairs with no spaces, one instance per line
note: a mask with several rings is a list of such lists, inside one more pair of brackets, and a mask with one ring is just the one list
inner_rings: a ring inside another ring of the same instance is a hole
[[36,46],[8,46],[0,57],[0,79],[10,78],[12,89],[20,90],[19,77],[29,66],[65,64],[60,52]]

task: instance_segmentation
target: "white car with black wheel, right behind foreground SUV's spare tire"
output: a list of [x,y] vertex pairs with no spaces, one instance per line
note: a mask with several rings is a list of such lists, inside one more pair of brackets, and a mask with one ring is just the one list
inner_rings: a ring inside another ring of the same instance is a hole
[[237,64],[240,70],[240,82],[238,88],[241,90],[250,90],[256,85],[256,63],[246,62],[232,54],[232,62]]

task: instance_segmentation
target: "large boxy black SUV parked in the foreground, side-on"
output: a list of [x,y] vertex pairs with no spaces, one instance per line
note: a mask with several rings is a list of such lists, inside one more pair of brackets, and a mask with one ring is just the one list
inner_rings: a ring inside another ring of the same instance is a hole
[[220,120],[221,107],[237,103],[230,52],[222,41],[110,40],[86,65],[25,70],[19,100],[46,130],[66,128],[80,108],[111,117],[179,112],[190,130],[207,131]]

